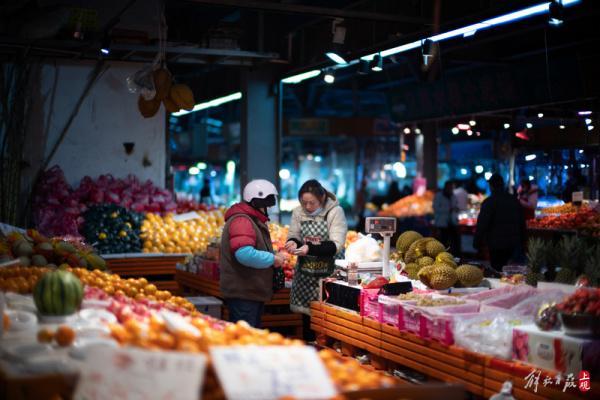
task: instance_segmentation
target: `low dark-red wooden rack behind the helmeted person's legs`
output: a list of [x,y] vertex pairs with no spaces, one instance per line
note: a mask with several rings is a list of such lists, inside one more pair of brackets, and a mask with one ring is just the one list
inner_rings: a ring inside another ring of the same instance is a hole
[[[182,292],[202,293],[223,299],[219,282],[205,278],[191,272],[177,270],[175,280]],[[271,330],[276,328],[292,328],[296,337],[302,337],[302,314],[292,313],[289,309],[290,289],[284,288],[273,294],[273,299],[265,303],[265,312],[262,316],[261,327]],[[284,312],[276,312],[276,309]],[[223,319],[227,319],[229,313],[224,307]]]

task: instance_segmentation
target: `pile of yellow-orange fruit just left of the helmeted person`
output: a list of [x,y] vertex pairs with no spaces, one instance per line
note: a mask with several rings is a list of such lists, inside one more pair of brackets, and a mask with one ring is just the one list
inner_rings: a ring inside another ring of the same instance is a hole
[[196,211],[199,218],[176,221],[173,214],[149,213],[140,237],[144,253],[202,253],[211,240],[221,236],[224,210]]

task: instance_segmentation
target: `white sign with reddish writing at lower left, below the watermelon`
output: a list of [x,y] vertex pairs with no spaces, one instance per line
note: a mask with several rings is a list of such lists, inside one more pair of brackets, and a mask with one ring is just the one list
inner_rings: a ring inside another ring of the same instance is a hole
[[75,400],[198,400],[206,356],[96,347],[81,369]]

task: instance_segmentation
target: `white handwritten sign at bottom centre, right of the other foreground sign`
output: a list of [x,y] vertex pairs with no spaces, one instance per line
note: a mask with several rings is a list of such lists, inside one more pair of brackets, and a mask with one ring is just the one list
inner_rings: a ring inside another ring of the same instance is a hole
[[210,354],[228,400],[327,399],[336,394],[312,347],[213,347]]

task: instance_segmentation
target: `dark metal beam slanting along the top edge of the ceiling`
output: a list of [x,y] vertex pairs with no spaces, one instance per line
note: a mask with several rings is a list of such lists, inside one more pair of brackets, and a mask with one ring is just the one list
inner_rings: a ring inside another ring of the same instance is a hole
[[223,7],[249,8],[252,10],[271,11],[282,14],[306,14],[318,17],[358,19],[368,21],[403,22],[422,25],[429,20],[420,17],[404,15],[379,14],[373,12],[340,10],[327,7],[313,7],[301,4],[282,4],[253,0],[187,0],[198,4],[207,4]]

